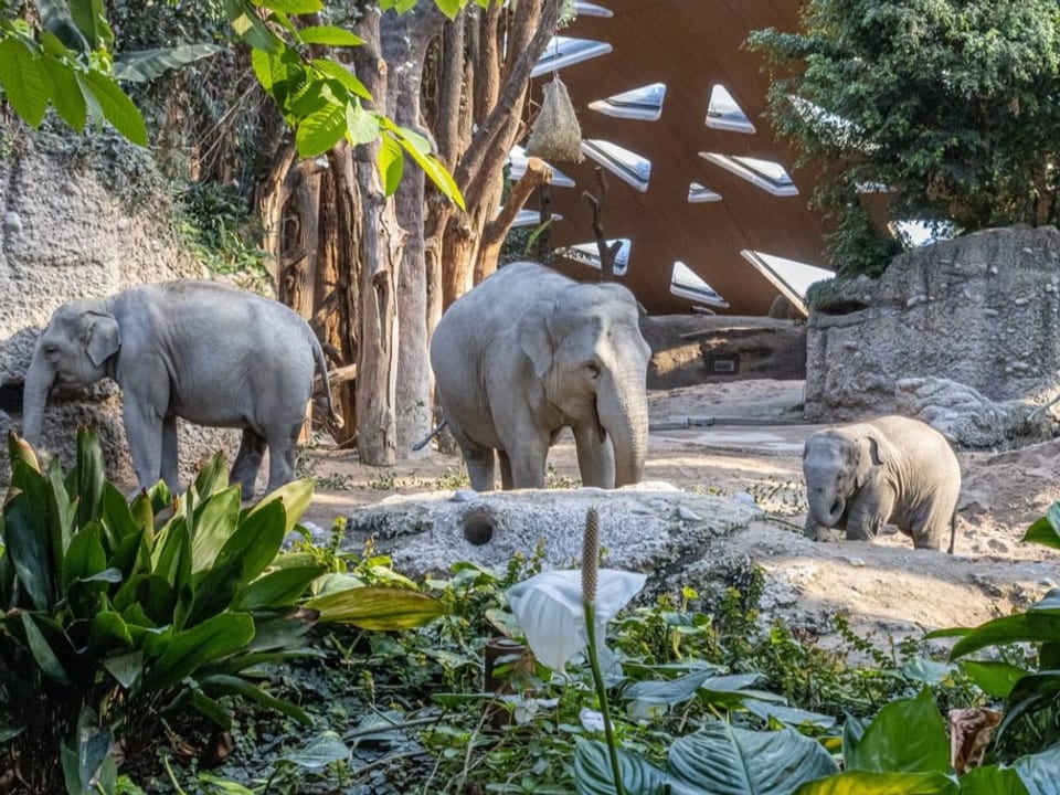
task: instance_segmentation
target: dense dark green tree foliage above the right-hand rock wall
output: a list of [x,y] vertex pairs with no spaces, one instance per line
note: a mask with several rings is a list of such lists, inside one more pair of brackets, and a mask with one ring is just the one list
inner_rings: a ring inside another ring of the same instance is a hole
[[[1054,0],[812,0],[803,33],[749,40],[771,64],[771,115],[835,222],[840,273],[886,267],[889,220],[961,232],[1060,221],[1060,6]],[[878,190],[880,189],[878,188]]]

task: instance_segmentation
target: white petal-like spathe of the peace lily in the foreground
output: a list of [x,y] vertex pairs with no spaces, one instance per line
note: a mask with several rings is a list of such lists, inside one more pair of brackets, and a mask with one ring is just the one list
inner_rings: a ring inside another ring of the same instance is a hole
[[[604,637],[607,622],[636,596],[646,581],[646,575],[636,572],[600,570],[595,603],[597,638]],[[562,672],[568,661],[589,643],[580,571],[534,574],[510,587],[508,601],[534,656],[552,670]]]

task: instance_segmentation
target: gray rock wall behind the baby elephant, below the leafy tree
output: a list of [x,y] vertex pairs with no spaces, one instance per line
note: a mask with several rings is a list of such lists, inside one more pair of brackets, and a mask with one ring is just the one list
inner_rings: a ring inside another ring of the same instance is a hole
[[993,401],[1060,392],[1060,232],[987,230],[916,248],[810,310],[810,422],[899,412],[899,381],[926,377]]

